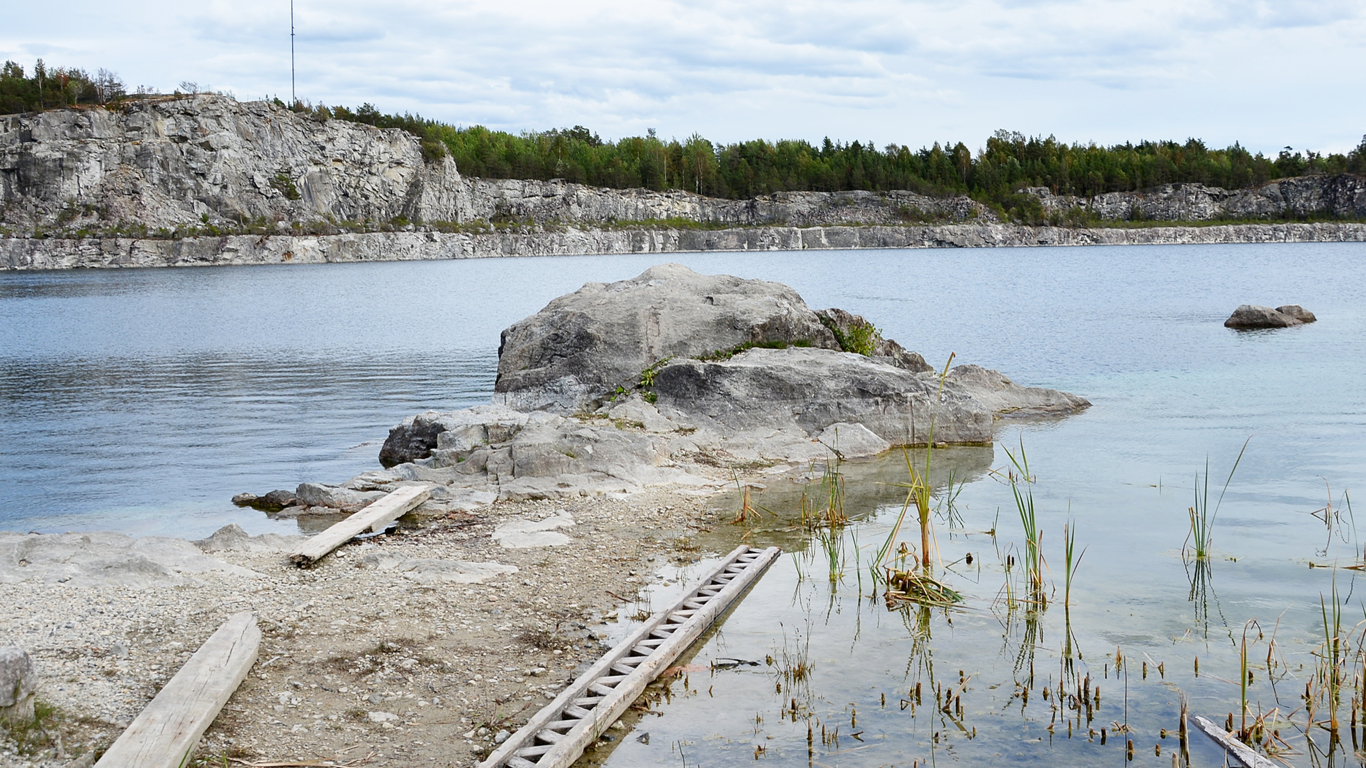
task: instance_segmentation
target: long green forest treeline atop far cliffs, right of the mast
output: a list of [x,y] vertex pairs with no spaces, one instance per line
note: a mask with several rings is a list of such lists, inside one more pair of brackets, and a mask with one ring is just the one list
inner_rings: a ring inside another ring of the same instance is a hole
[[1366,174],[1366,137],[1347,154],[1285,148],[1276,157],[1266,157],[1238,143],[1210,149],[1199,139],[1097,146],[996,131],[974,153],[960,141],[921,149],[896,143],[878,149],[873,142],[828,138],[820,146],[803,139],[713,143],[697,134],[667,141],[653,130],[612,142],[582,126],[510,134],[484,126],[462,128],[414,115],[385,115],[370,104],[359,109],[303,105],[296,109],[318,118],[404,128],[421,139],[429,157],[449,153],[460,172],[471,176],[683,189],[735,200],[798,190],[912,190],[968,194],[1009,209],[1023,187],[1090,197],[1165,183],[1247,189],[1287,176]]

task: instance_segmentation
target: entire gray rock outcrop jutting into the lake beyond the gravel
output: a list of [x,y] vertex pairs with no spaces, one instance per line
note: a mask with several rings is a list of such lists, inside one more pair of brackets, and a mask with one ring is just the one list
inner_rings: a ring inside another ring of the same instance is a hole
[[1089,406],[975,365],[941,385],[918,354],[858,316],[811,312],[776,283],[679,265],[590,283],[505,331],[496,398],[404,420],[385,441],[389,469],[346,486],[436,482],[438,503],[466,491],[535,499],[716,486],[729,478],[708,466],[984,444],[997,418]]

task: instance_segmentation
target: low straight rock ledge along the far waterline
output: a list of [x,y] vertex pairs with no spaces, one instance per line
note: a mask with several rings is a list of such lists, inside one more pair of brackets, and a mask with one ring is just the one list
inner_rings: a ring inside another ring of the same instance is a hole
[[1366,242],[1361,223],[1070,228],[1015,224],[576,228],[153,238],[0,238],[0,271],[430,261],[515,256]]

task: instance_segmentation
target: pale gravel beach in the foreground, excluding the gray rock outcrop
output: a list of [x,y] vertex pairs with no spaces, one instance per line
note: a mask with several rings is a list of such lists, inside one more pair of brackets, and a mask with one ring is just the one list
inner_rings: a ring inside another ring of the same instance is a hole
[[[10,607],[0,644],[29,650],[40,700],[55,708],[46,735],[0,743],[0,767],[90,765],[214,629],[246,609],[264,633],[260,659],[206,734],[199,764],[471,765],[597,659],[639,590],[661,586],[669,566],[717,553],[723,538],[739,543],[735,529],[717,529],[708,548],[694,543],[734,512],[714,503],[667,488],[497,503],[351,543],[307,570],[287,562],[290,537],[219,537],[232,548],[201,547],[223,570],[160,582],[153,573],[138,589],[111,584],[117,578],[0,578]],[[546,519],[541,527],[559,525],[567,541],[494,540],[499,523]]]

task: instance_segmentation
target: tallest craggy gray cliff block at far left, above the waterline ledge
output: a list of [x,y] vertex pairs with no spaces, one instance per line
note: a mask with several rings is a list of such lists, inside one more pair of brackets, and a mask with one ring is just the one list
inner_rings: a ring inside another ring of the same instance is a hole
[[[413,135],[313,120],[221,96],[0,118],[0,197],[14,228],[440,220],[459,175]],[[448,217],[449,219],[449,217]]]

